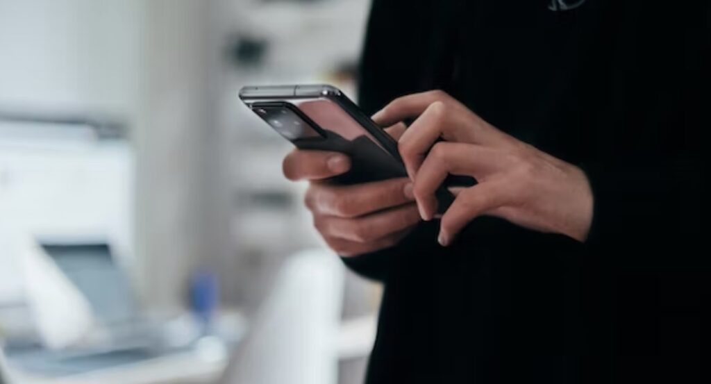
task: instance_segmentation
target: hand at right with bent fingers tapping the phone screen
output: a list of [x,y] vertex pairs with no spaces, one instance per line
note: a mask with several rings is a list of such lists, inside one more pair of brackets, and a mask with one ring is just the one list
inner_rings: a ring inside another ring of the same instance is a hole
[[400,97],[373,119],[383,125],[411,117],[417,119],[398,146],[424,220],[437,212],[434,191],[447,174],[479,182],[459,191],[442,215],[440,244],[449,245],[479,215],[587,238],[593,197],[581,169],[499,131],[442,91]]

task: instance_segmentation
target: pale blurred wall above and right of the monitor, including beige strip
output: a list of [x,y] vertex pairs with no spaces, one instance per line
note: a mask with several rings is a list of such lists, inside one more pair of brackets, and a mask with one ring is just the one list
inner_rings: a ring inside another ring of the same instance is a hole
[[108,114],[136,156],[148,304],[181,304],[202,257],[203,0],[0,0],[0,112]]

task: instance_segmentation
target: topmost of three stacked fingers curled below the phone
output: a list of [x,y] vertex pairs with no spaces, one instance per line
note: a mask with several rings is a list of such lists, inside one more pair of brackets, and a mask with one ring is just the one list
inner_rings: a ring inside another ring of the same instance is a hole
[[355,218],[415,200],[408,178],[334,186],[312,183],[306,191],[306,206],[314,213]]

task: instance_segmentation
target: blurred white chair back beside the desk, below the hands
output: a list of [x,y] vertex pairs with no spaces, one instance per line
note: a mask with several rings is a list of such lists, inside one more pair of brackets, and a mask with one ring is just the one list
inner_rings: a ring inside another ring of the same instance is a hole
[[290,257],[224,383],[336,383],[342,297],[343,265],[331,252]]

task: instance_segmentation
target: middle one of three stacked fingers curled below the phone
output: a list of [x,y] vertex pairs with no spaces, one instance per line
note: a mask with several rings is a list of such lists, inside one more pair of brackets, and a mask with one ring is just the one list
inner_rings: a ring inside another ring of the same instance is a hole
[[314,225],[323,235],[353,242],[372,242],[419,223],[415,204],[383,210],[360,218],[316,216]]

